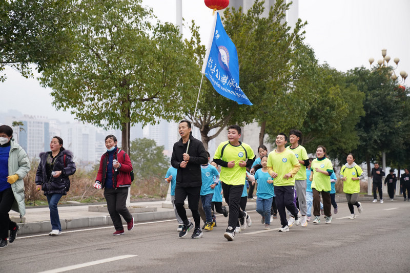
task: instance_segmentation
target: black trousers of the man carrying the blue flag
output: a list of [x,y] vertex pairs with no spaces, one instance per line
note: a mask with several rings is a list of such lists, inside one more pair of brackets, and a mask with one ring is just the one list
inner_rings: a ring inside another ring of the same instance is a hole
[[175,208],[179,217],[184,224],[189,224],[187,211],[183,207],[183,202],[188,197],[188,207],[191,209],[192,217],[194,218],[195,228],[199,227],[201,218],[199,216],[198,207],[200,200],[201,187],[181,187],[175,186]]

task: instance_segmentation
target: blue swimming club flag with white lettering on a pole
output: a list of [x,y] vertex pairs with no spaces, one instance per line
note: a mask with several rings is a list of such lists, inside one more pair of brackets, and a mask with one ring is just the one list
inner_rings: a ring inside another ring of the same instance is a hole
[[239,87],[238,53],[235,44],[223,28],[219,13],[216,12],[215,29],[210,39],[211,46],[203,61],[202,73],[211,81],[220,95],[238,104],[252,105],[252,102]]

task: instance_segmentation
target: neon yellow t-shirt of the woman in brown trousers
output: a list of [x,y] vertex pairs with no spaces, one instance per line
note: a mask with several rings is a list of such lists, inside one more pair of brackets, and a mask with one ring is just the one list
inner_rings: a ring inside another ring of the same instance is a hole
[[325,172],[333,173],[333,164],[329,158],[323,157],[322,160],[315,158],[312,161],[311,171],[313,173],[312,185],[311,188],[316,188],[318,192],[330,192],[332,190],[330,184],[330,176],[322,173],[317,173],[316,168]]

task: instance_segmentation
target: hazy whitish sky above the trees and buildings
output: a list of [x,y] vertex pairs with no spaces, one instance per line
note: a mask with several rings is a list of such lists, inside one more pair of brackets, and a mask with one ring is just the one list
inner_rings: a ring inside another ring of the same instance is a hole
[[[160,20],[175,23],[173,0],[144,0],[143,4],[153,7]],[[407,0],[299,0],[299,17],[308,22],[306,43],[320,62],[341,71],[368,68],[368,58],[374,57],[377,62],[385,48],[392,57],[391,64],[395,57],[400,58],[397,74],[401,70],[410,72],[409,11]],[[182,16],[185,22],[195,19],[202,43],[207,44],[212,10],[202,0],[182,0]],[[184,29],[183,34],[187,33]],[[36,79],[25,79],[11,69],[6,73],[8,79],[0,83],[1,112],[15,109],[23,114],[74,120],[71,114],[52,107],[50,90],[41,88]]]

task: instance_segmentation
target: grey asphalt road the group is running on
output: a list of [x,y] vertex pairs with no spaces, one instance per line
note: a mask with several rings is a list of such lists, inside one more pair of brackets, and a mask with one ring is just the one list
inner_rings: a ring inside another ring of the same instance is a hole
[[362,204],[356,220],[339,203],[332,224],[322,217],[289,233],[277,231],[279,219],[263,230],[252,211],[253,225],[232,242],[222,215],[200,239],[178,238],[174,220],[138,223],[122,236],[112,226],[22,235],[0,249],[0,272],[410,272],[410,202]]

